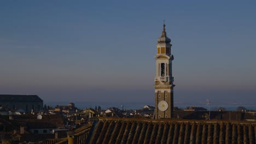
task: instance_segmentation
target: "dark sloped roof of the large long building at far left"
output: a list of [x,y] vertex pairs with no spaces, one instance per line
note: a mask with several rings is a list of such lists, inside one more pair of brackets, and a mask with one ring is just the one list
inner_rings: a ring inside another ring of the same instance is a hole
[[1,101],[43,101],[37,95],[0,94]]

